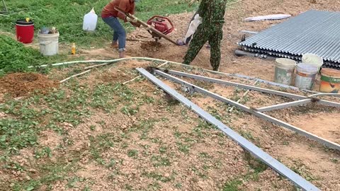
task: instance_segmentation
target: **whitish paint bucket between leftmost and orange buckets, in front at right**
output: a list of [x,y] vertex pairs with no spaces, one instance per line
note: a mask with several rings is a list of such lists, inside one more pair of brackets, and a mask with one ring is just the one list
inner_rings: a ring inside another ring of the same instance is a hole
[[300,63],[297,64],[295,86],[306,90],[312,90],[315,76],[319,68],[315,64]]

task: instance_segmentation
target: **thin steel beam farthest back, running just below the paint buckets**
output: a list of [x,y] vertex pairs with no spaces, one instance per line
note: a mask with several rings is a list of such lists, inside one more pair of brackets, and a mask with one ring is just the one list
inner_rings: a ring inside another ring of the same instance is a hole
[[[163,69],[160,69],[160,70],[165,71]],[[269,93],[269,94],[272,94],[272,95],[283,96],[283,97],[287,97],[287,98],[293,98],[295,100],[302,100],[302,99],[309,98],[308,96],[300,96],[300,95],[295,95],[293,93],[286,93],[286,92],[283,92],[283,91],[273,91],[273,90],[266,89],[266,88],[259,88],[259,87],[256,87],[256,86],[249,86],[249,85],[245,85],[245,84],[242,84],[242,83],[235,83],[235,82],[224,81],[224,80],[220,80],[220,79],[212,79],[212,78],[205,77],[205,76],[198,76],[198,75],[195,75],[195,74],[184,73],[184,72],[181,72],[181,71],[166,70],[166,73],[167,74],[173,74],[173,75],[176,75],[176,76],[183,76],[183,77],[187,77],[187,78],[191,78],[191,79],[197,79],[197,80],[201,80],[201,81],[208,81],[208,82],[211,82],[211,83],[218,83],[218,84],[222,84],[222,85],[225,85],[225,86],[234,86],[234,87],[239,87],[239,88],[250,89],[252,91],[259,91],[259,92],[263,92],[263,93]],[[320,95],[320,94],[315,94],[315,95]],[[319,103],[319,104],[322,104],[322,105],[340,108],[340,103],[331,102],[331,101],[328,101],[328,100],[316,100],[316,102]]]

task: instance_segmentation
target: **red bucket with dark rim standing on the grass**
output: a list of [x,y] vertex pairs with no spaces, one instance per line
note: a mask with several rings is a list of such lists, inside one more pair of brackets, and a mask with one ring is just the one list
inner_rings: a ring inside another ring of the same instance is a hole
[[28,44],[33,42],[34,23],[33,21],[26,22],[25,20],[16,21],[16,38],[19,42]]

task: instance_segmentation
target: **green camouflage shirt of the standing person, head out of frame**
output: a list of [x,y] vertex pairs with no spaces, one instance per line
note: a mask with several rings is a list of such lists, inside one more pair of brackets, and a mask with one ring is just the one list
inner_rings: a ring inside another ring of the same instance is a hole
[[202,0],[198,7],[198,14],[203,23],[225,23],[225,6],[227,0]]

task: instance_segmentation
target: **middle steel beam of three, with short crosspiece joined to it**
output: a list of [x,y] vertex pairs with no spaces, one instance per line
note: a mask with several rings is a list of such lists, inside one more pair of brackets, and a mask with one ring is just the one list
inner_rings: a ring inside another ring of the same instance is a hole
[[290,129],[293,132],[296,132],[297,134],[301,134],[301,135],[303,135],[305,137],[308,137],[308,138],[310,138],[310,139],[312,139],[314,141],[319,142],[320,144],[324,144],[325,146],[328,146],[331,149],[336,149],[336,150],[340,151],[340,145],[336,144],[336,143],[334,143],[332,141],[329,141],[327,139],[323,139],[322,137],[318,137],[315,134],[312,134],[310,132],[306,132],[303,129],[300,129],[298,127],[290,125],[290,124],[288,124],[286,122],[278,120],[278,119],[276,119],[274,117],[271,117],[269,115],[266,115],[266,114],[264,114],[262,112],[258,112],[256,110],[252,110],[251,108],[247,107],[246,105],[242,105],[242,104],[237,103],[237,102],[235,102],[233,100],[229,100],[229,99],[224,98],[224,97],[222,97],[220,95],[217,95],[216,93],[212,93],[210,91],[207,91],[204,88],[200,88],[199,86],[196,86],[194,84],[188,83],[188,82],[183,81],[181,79],[178,79],[178,78],[176,78],[174,76],[170,76],[169,74],[166,74],[163,71],[155,70],[154,72],[155,72],[155,74],[158,74],[159,76],[163,76],[166,79],[169,79],[171,81],[175,81],[176,83],[180,83],[183,86],[187,86],[189,88],[192,88],[193,91],[196,91],[196,92],[199,92],[199,93],[203,93],[203,94],[205,94],[207,96],[210,96],[212,98],[220,100],[220,101],[222,101],[224,103],[228,103],[229,105],[235,106],[235,107],[237,107],[237,108],[239,108],[241,110],[244,110],[245,112],[249,112],[249,113],[251,113],[251,114],[253,114],[253,115],[257,116],[257,117],[261,117],[263,120],[267,120],[268,122],[272,122],[273,124],[279,125],[281,127],[285,127],[286,129]]

